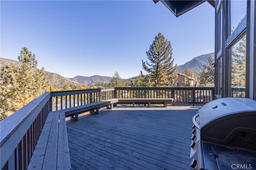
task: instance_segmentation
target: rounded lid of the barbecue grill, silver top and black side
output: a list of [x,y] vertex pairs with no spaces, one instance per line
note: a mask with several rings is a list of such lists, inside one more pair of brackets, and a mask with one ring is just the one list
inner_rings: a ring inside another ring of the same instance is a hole
[[198,113],[201,140],[256,150],[256,101],[221,98],[202,106]]

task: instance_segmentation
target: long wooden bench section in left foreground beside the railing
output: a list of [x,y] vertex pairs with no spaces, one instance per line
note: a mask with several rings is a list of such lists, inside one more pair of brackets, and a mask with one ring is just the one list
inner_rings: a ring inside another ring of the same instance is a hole
[[65,114],[48,114],[42,133],[28,165],[28,170],[70,170]]

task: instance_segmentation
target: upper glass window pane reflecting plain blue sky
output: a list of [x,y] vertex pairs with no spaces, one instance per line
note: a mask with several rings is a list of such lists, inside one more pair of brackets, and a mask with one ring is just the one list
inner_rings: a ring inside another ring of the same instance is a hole
[[[246,16],[246,0],[231,0],[230,2],[230,26],[231,33],[236,29],[238,24]],[[231,34],[230,33],[230,34]],[[230,35],[229,34],[229,35]]]

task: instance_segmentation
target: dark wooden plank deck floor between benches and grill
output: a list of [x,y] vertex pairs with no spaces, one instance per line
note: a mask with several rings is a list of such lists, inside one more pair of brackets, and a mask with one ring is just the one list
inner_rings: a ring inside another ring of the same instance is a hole
[[114,107],[66,121],[72,169],[189,170],[199,107]]

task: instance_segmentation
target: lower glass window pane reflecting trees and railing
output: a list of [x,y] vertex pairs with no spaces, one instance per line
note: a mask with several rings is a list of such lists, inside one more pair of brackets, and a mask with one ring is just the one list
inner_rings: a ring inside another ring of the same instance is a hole
[[231,94],[232,97],[245,97],[246,78],[246,35],[232,46],[231,55]]

